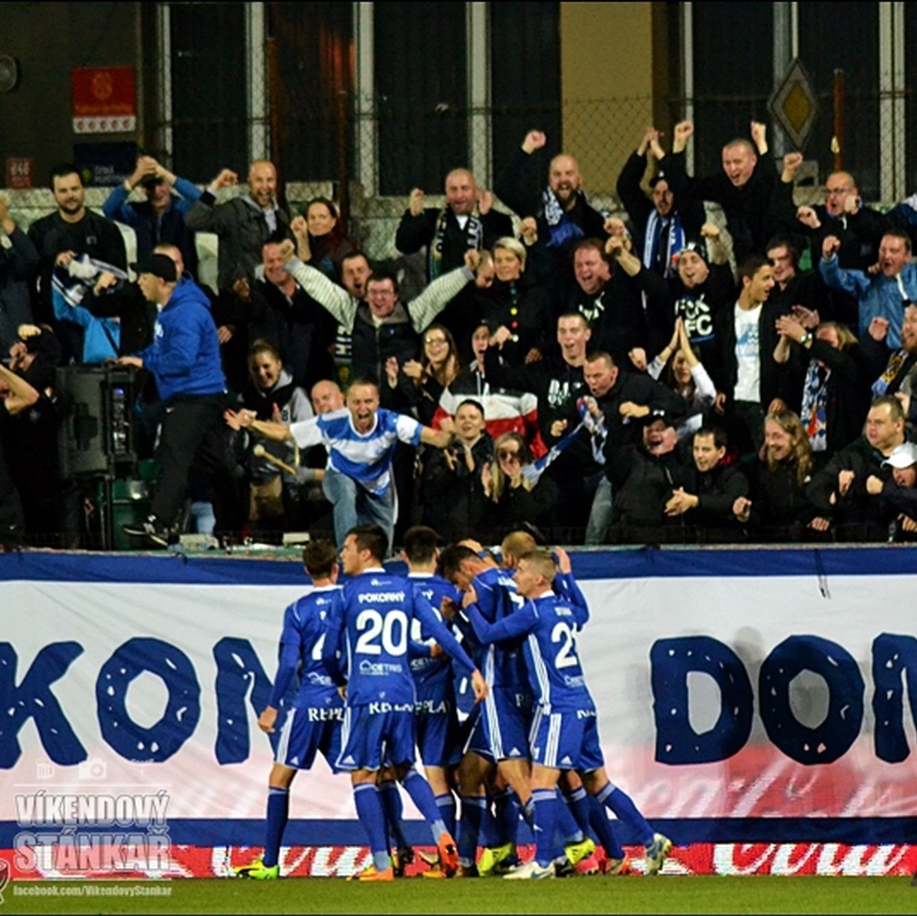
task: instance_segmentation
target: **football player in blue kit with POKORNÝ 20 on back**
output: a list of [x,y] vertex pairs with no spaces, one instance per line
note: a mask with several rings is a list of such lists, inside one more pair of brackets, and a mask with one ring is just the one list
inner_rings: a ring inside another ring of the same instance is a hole
[[[392,767],[433,834],[445,875],[458,868],[458,850],[429,783],[414,769],[414,679],[408,662],[411,624],[432,637],[458,668],[470,674],[478,700],[487,685],[447,627],[411,583],[382,568],[388,537],[379,525],[350,529],[340,557],[353,579],[327,620],[323,657],[332,679],[346,685],[347,702],[337,766],[350,772],[359,821],[370,839],[373,864],[366,880],[394,878],[384,814],[376,788],[383,767]],[[340,660],[338,660],[338,654]],[[346,672],[346,674],[345,674]]]

